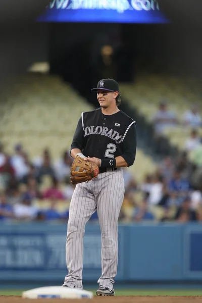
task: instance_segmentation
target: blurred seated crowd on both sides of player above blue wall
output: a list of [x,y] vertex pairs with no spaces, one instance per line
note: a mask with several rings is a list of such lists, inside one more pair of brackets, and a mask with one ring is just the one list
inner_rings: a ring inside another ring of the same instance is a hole
[[[123,169],[125,196],[119,220],[202,221],[202,138],[198,108],[191,105],[183,113],[182,126],[189,135],[176,157],[168,153],[164,131],[175,128],[179,121],[166,100],[160,102],[153,124],[155,153],[163,153],[163,157],[155,165],[146,163],[144,167],[144,157],[137,151],[138,165],[134,166],[141,170],[141,177],[136,177],[135,169]],[[11,146],[11,153],[6,153],[4,144],[0,144],[0,220],[67,222],[74,191],[70,182],[73,159],[69,149],[61,151],[56,159],[48,146],[30,158],[26,147],[19,142],[13,150]],[[90,222],[94,220],[96,213]]]

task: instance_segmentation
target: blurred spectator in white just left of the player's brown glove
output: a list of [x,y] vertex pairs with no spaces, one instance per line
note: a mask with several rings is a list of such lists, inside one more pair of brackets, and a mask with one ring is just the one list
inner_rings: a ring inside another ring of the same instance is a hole
[[66,177],[70,177],[72,158],[69,154],[69,151],[65,151],[63,157],[56,162],[55,172],[56,177],[59,181],[63,181]]

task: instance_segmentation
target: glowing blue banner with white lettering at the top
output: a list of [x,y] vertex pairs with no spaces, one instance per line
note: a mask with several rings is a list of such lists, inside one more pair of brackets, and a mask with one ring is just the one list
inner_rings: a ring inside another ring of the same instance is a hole
[[37,21],[169,23],[157,0],[52,0]]

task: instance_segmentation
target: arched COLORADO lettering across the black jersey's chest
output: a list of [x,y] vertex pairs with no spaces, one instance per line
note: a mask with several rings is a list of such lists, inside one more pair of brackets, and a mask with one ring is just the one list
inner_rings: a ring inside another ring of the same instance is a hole
[[106,137],[111,138],[112,140],[115,140],[118,144],[122,142],[123,138],[123,136],[120,136],[116,130],[113,130],[112,128],[109,130],[108,127],[103,127],[101,125],[98,125],[96,127],[86,126],[84,136],[89,136],[91,134],[104,135]]

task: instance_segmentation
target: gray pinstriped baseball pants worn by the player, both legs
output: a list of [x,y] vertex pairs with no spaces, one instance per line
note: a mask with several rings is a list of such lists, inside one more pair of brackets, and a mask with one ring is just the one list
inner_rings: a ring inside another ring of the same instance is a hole
[[118,218],[124,198],[123,170],[99,174],[76,185],[69,210],[66,241],[68,275],[65,284],[82,289],[83,236],[85,224],[97,210],[102,234],[102,275],[97,283],[113,288],[118,265]]

